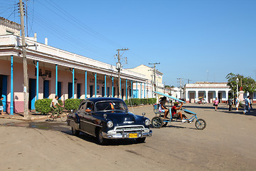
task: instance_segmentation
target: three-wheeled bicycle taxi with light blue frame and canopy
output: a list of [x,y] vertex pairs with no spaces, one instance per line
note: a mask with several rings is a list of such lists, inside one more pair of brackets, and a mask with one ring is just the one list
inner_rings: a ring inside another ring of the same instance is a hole
[[[179,100],[178,98],[174,98],[171,95],[167,95],[167,94],[156,92],[156,91],[154,91],[154,93],[157,93],[159,95],[164,95],[166,98],[171,98],[178,102],[186,103],[185,101]],[[154,128],[165,127],[168,123],[171,123],[171,122],[181,122],[181,120],[179,120],[177,118],[172,118],[172,117],[170,117],[169,119],[163,118],[164,113],[159,112],[159,105],[160,104],[154,105],[154,113],[156,114],[156,116],[154,118],[152,118],[152,120],[151,120],[151,124]],[[172,107],[172,105],[171,106],[166,105],[166,107]],[[185,113],[187,113],[189,115],[192,115],[191,118],[186,119],[187,120],[186,123],[192,123],[193,120],[196,119],[196,122],[195,122],[196,129],[203,130],[204,128],[206,128],[206,120],[203,120],[201,118],[198,119],[196,116],[196,113],[193,113],[191,110],[187,110],[186,108],[181,108],[181,110],[183,110]],[[171,108],[169,108],[169,113],[171,115]]]

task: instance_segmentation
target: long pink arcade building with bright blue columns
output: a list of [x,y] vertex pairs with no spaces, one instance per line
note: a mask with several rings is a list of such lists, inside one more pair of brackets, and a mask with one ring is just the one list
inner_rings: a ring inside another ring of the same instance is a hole
[[[0,18],[0,95],[4,110],[23,112],[23,56],[20,25]],[[132,98],[134,83],[140,89],[151,90],[146,76],[123,69],[121,79],[115,66],[38,43],[36,35],[26,38],[28,63],[29,109],[42,98],[118,97],[119,86],[123,99]],[[118,83],[120,82],[120,83]],[[140,93],[142,94],[142,93]],[[141,95],[140,98],[145,98]]]

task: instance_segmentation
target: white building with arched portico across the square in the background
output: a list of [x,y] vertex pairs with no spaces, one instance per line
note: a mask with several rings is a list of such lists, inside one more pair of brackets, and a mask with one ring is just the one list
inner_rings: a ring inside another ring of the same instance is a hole
[[227,83],[197,82],[186,84],[186,102],[194,103],[198,98],[205,98],[209,103],[213,103],[213,100],[218,98],[221,103],[225,103],[228,100],[230,90]]

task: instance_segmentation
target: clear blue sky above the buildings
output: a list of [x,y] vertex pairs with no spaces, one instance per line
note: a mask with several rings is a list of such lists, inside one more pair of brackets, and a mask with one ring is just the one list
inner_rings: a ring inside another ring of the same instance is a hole
[[[0,16],[20,23],[17,2],[1,0]],[[29,0],[28,35],[113,65],[116,49],[129,48],[124,68],[161,63],[170,86],[224,82],[230,72],[256,77],[255,9],[249,0]]]

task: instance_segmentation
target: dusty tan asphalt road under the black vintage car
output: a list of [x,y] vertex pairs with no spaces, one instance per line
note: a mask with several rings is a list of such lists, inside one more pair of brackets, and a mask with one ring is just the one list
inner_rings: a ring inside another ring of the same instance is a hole
[[[206,120],[205,130],[171,123],[152,128],[152,137],[141,144],[100,146],[90,135],[70,135],[65,123],[1,119],[0,170],[255,170],[256,112],[228,112],[227,105],[218,111],[212,105],[186,108]],[[129,110],[154,117],[152,106]]]

